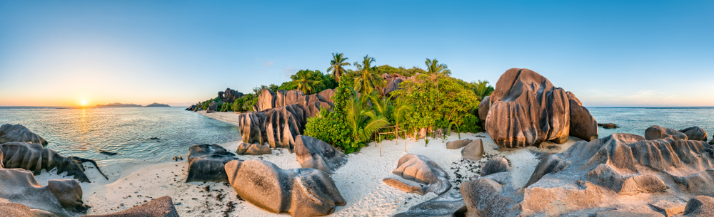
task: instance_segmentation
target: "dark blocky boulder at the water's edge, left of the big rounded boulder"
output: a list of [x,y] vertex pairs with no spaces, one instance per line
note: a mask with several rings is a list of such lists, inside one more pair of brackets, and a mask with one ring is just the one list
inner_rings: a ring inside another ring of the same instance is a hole
[[228,152],[216,144],[196,144],[188,148],[189,181],[228,181],[226,163],[238,159],[236,154]]

